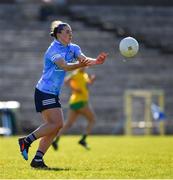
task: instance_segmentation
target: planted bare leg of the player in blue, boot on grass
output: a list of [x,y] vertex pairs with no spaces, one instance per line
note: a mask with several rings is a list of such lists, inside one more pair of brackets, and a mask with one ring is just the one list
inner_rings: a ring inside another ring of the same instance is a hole
[[[45,124],[53,124],[54,129],[52,129],[52,132],[48,133],[47,135],[40,136],[42,135],[44,130],[46,128],[43,126],[38,128],[34,133],[36,134],[37,137],[42,137],[39,143],[38,150],[35,154],[34,159],[31,162],[31,166],[34,168],[45,168],[46,165],[44,164],[43,161],[43,156],[52,144],[53,139],[55,138],[56,134],[59,132],[59,130],[63,126],[63,113],[61,108],[53,108],[53,109],[48,109],[42,112],[42,116],[44,120],[46,121]],[[50,126],[51,127],[51,126]]]

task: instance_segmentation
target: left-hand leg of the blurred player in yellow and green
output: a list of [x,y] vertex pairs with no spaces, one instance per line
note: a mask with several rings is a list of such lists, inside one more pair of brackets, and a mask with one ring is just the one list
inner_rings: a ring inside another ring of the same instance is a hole
[[54,139],[52,143],[54,150],[58,149],[58,142],[59,142],[60,136],[64,134],[74,124],[74,122],[77,120],[78,115],[79,113],[77,111],[71,110],[71,109],[69,110],[67,121],[65,122],[63,128],[58,132],[56,138]]

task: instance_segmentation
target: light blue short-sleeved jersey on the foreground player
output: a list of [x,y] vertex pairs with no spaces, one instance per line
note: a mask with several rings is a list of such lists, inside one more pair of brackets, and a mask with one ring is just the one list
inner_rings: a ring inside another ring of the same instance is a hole
[[43,74],[36,88],[45,93],[59,95],[66,72],[55,62],[63,58],[67,63],[71,63],[81,54],[78,45],[70,43],[64,46],[59,41],[54,40],[44,55]]

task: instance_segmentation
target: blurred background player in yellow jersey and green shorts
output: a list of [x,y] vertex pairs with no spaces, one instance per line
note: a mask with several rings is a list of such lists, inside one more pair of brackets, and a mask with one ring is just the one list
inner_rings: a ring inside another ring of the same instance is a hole
[[83,134],[79,144],[89,149],[86,138],[91,133],[94,125],[95,117],[89,105],[89,90],[88,84],[92,84],[95,80],[95,75],[86,73],[85,68],[75,70],[65,78],[66,84],[71,88],[72,94],[69,100],[69,112],[67,122],[64,127],[59,131],[56,139],[53,141],[52,146],[55,150],[58,149],[59,137],[69,129],[77,118],[82,115],[87,120],[86,132]]

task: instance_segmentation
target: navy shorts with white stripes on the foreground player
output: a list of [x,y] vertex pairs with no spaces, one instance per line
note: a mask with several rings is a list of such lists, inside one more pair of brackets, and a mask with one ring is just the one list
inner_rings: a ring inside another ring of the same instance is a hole
[[58,96],[44,93],[37,88],[35,89],[34,100],[37,112],[42,112],[45,109],[61,108]]

